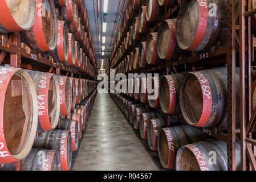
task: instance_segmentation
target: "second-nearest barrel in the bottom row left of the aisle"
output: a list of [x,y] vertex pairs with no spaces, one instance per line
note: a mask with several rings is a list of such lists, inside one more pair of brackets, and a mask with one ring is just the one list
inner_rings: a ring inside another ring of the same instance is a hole
[[60,155],[62,171],[68,171],[72,163],[72,142],[68,130],[44,131],[35,139],[33,148],[55,150]]

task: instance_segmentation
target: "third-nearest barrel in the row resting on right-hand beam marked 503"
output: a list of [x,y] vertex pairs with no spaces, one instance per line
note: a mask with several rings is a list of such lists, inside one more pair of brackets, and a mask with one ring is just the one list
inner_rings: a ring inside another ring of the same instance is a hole
[[147,36],[146,59],[148,64],[156,64],[159,60],[157,54],[157,32],[150,33]]

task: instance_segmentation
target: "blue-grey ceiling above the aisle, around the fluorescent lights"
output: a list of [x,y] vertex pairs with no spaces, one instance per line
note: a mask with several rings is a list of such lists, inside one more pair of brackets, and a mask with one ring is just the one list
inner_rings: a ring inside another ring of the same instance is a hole
[[[99,2],[99,30],[98,31],[98,18],[97,18],[97,1]],[[124,4],[123,12],[121,14],[120,22],[118,24],[117,31],[123,22],[123,15],[125,13],[125,9],[128,6],[129,0],[108,0],[108,10],[107,13],[104,14],[104,0],[85,0],[87,15],[89,19],[90,31],[92,35],[92,40],[94,41],[94,49],[95,49],[95,57],[97,69],[101,68],[101,59],[104,59],[103,69],[107,66],[107,61],[109,60],[109,56],[111,55],[111,47],[112,38],[115,34],[115,29],[117,26],[117,20],[119,19],[119,14],[121,11],[121,7]],[[103,22],[107,22],[107,30],[103,32]],[[117,36],[117,31],[115,34],[115,38]],[[100,43],[99,43],[99,33],[100,33]],[[105,36],[105,43],[102,43],[102,36]],[[101,46],[105,46],[104,56]]]

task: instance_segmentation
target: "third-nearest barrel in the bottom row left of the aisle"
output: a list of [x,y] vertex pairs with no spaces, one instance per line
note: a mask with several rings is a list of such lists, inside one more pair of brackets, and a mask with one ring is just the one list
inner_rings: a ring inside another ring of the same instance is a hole
[[59,118],[58,129],[70,131],[72,151],[78,150],[78,145],[79,145],[78,121],[72,120],[72,119]]

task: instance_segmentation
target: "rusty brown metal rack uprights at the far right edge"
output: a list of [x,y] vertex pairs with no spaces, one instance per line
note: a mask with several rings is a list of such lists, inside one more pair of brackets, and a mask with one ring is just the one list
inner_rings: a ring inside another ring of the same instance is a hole
[[[231,3],[231,1],[229,2]],[[252,69],[251,62],[253,61],[253,52],[254,52],[254,36],[251,33],[251,15],[256,13],[256,9],[252,9],[253,1],[251,0],[240,0],[239,1],[239,11],[238,15],[233,15],[231,18],[232,22],[235,22],[237,16],[239,16],[239,38],[235,33],[234,23],[230,29],[230,35],[232,34],[232,42],[229,44],[229,48],[233,49],[229,52],[229,57],[233,56],[233,59],[229,60],[229,67],[235,67],[235,53],[239,51],[239,67],[240,67],[240,98],[241,98],[241,113],[240,113],[240,139],[241,139],[241,170],[256,170],[256,160],[255,160],[255,146],[256,140],[252,138],[254,127],[256,124],[255,116],[256,110],[252,108]],[[234,10],[234,5],[230,6],[229,9]],[[230,11],[229,10],[229,11]],[[231,11],[234,12],[234,11]],[[235,46],[235,42],[237,46]],[[230,69],[229,68],[229,69]],[[231,69],[230,69],[231,71]],[[231,76],[231,72],[230,76]],[[233,80],[234,76],[229,77],[229,81]],[[231,93],[232,90],[229,90]],[[234,93],[234,92],[233,92]],[[230,105],[234,110],[234,104]],[[231,107],[230,107],[231,109]],[[231,111],[229,109],[229,111]],[[253,110],[253,113],[252,113]],[[235,115],[234,115],[235,117]],[[229,119],[229,123],[233,123],[234,118]],[[235,125],[233,125],[234,127]],[[235,137],[234,133],[230,135],[232,139]],[[229,155],[229,169],[234,169],[235,157],[234,157],[234,140],[230,140],[229,150],[233,150],[233,154]]]

